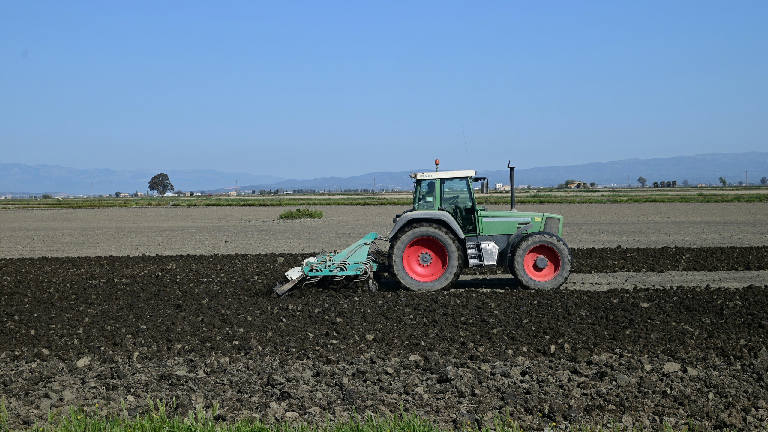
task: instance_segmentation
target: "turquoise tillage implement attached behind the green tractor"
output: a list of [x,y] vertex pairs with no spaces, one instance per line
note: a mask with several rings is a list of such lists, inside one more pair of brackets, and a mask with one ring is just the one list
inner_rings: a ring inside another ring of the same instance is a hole
[[382,253],[373,242],[376,238],[379,238],[379,234],[372,232],[343,251],[307,258],[300,267],[286,272],[289,282],[284,285],[277,284],[274,287],[275,294],[283,296],[299,281],[312,284],[323,277],[331,277],[333,281],[341,281],[346,277],[353,281],[367,280],[370,291],[378,290],[379,285],[373,280],[373,275],[379,269],[379,262],[370,255],[371,249]]

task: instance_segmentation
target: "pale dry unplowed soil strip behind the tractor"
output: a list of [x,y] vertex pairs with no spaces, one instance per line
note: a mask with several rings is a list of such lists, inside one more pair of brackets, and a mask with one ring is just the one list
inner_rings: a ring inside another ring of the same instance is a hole
[[[0,258],[306,254],[346,248],[369,232],[387,235],[392,217],[407,206],[316,209],[323,219],[277,221],[286,210],[280,206],[0,211]],[[768,245],[768,203],[541,204],[518,210],[562,214],[563,238],[573,248]]]

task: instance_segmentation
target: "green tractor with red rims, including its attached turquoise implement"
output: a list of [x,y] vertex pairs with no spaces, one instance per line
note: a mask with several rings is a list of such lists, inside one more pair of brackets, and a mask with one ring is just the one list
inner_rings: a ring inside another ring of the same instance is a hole
[[[435,167],[439,166],[435,161]],[[571,251],[560,238],[563,217],[528,213],[515,209],[515,167],[510,172],[511,210],[491,211],[475,201],[473,184],[488,193],[488,178],[474,170],[411,173],[415,181],[413,207],[392,220],[389,233],[391,273],[406,289],[437,291],[452,287],[463,268],[504,268],[528,288],[551,290],[571,274]],[[384,252],[374,243],[379,235],[366,237],[334,254],[306,259],[286,272],[289,282],[278,285],[277,295],[286,294],[298,281],[334,280],[353,277],[368,281],[376,291],[379,261],[371,249]]]

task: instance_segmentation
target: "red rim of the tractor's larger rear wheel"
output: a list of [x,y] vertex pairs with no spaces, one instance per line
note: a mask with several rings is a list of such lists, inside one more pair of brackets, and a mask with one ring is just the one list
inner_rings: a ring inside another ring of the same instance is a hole
[[402,252],[402,265],[415,281],[437,281],[448,268],[448,251],[436,238],[419,237]]

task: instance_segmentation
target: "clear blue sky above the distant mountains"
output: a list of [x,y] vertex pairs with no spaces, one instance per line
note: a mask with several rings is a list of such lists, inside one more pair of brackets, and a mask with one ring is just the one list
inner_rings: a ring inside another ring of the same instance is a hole
[[2,2],[0,161],[310,178],[765,151],[766,18],[768,2]]

